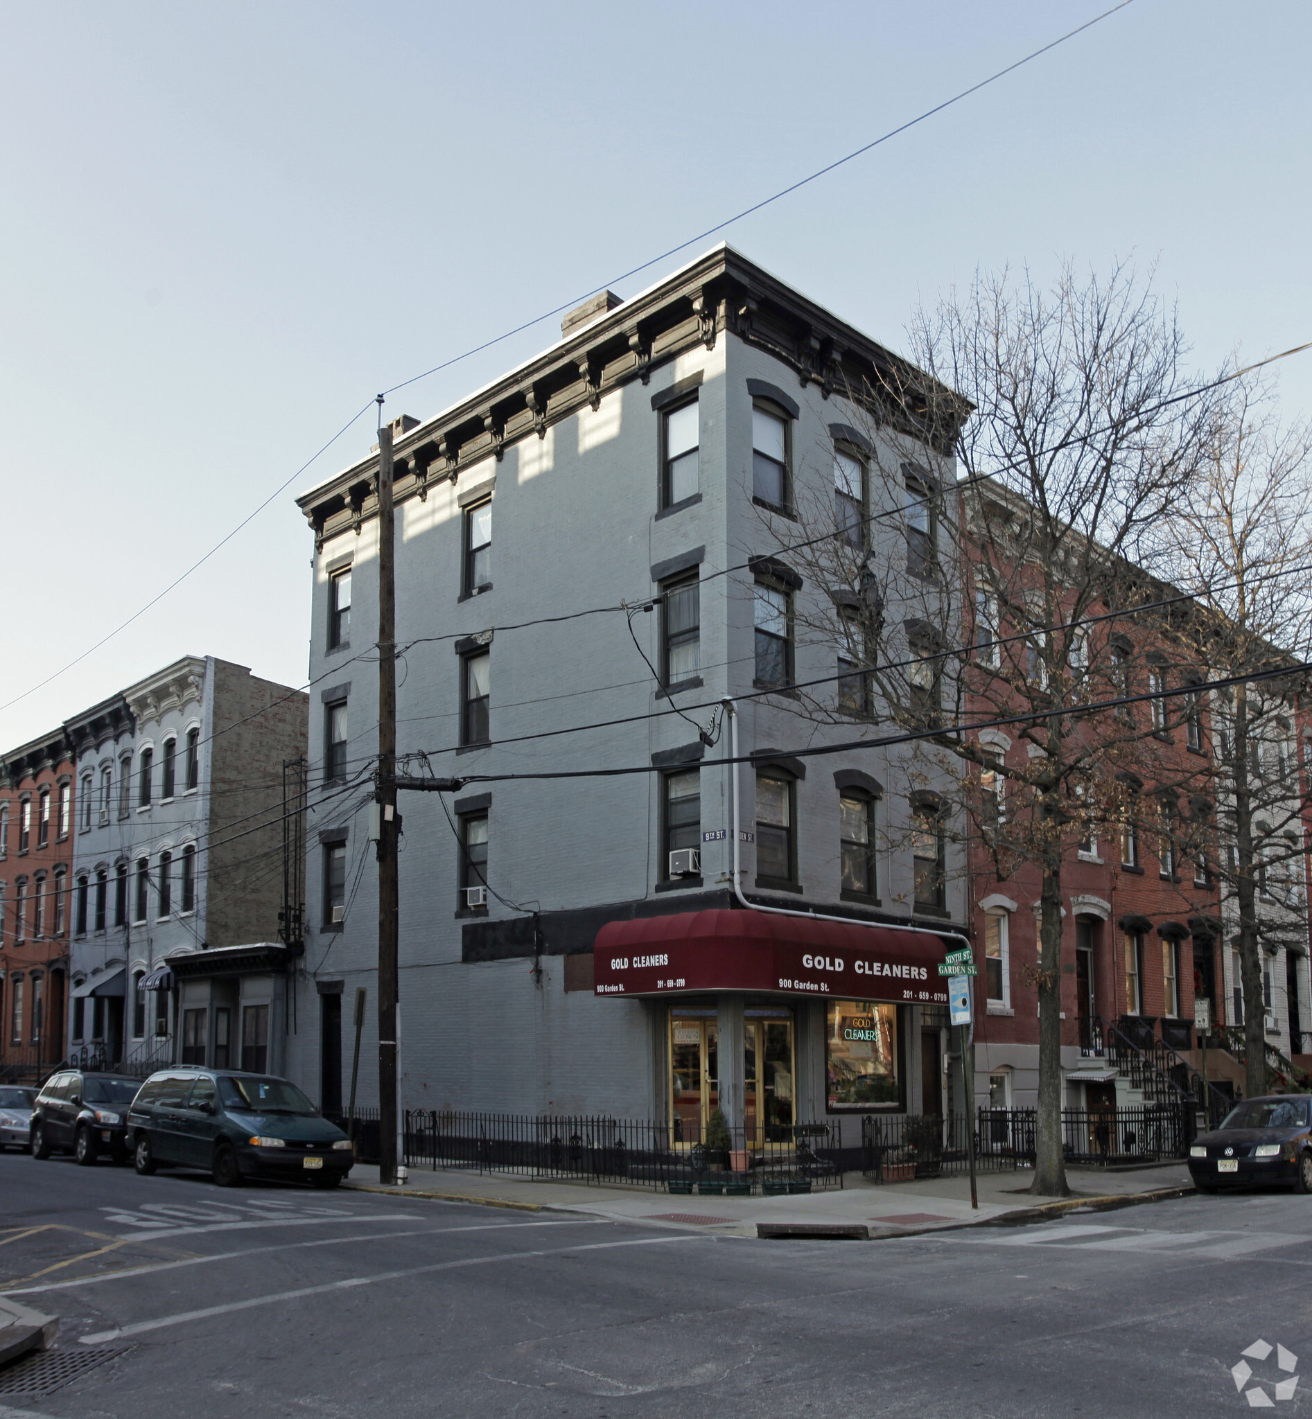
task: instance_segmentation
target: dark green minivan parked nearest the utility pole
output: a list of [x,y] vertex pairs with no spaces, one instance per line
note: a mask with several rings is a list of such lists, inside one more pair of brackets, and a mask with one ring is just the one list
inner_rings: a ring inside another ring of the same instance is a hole
[[204,1168],[220,1188],[284,1178],[335,1188],[355,1154],[346,1135],[285,1078],[169,1069],[141,1087],[128,1118],[141,1174]]

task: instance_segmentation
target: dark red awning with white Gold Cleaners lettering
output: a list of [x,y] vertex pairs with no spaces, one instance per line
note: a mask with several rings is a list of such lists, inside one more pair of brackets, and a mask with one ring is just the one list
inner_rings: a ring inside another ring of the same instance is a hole
[[596,993],[662,996],[706,990],[946,1005],[946,956],[927,931],[687,911],[608,922],[592,948]]

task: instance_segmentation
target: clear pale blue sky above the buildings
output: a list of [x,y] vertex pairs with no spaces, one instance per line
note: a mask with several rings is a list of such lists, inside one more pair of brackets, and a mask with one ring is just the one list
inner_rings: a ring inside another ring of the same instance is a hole
[[[0,6],[0,701],[381,387],[608,281],[1106,7]],[[977,265],[1156,263],[1200,369],[1312,339],[1305,0],[1129,9],[718,236],[897,348]],[[619,287],[632,294],[687,255]],[[547,322],[405,392],[420,417]],[[1282,373],[1312,406],[1312,355]],[[185,654],[305,678],[291,494],[0,746]]]

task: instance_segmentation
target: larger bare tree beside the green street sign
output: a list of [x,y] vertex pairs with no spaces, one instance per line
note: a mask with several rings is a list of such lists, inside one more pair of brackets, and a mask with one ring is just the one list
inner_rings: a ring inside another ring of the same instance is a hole
[[[1173,314],[1125,267],[1065,270],[1051,291],[978,275],[912,336],[933,383],[846,390],[852,424],[815,451],[832,492],[801,502],[794,558],[828,592],[807,631],[835,646],[841,678],[798,707],[920,735],[936,766],[954,761],[956,806],[1000,874],[1038,870],[1032,1189],[1062,1195],[1062,866],[1137,812],[1137,785],[1176,773],[1142,708],[1096,707],[1133,688],[1137,609],[1160,599],[1136,568],[1191,485],[1198,412],[1171,403],[1187,386]],[[1010,752],[971,728],[1010,717]]]

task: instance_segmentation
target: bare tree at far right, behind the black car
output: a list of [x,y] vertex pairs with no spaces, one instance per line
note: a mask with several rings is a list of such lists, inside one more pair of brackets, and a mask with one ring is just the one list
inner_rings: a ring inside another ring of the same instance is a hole
[[1210,742],[1201,697],[1191,735],[1210,761],[1218,840],[1208,870],[1240,956],[1251,1097],[1268,1088],[1264,961],[1308,946],[1296,748],[1306,678],[1292,667],[1312,631],[1312,427],[1282,426],[1268,379],[1228,385],[1200,478],[1161,534],[1161,562],[1194,597],[1173,619],[1181,664],[1237,680],[1210,697]]

